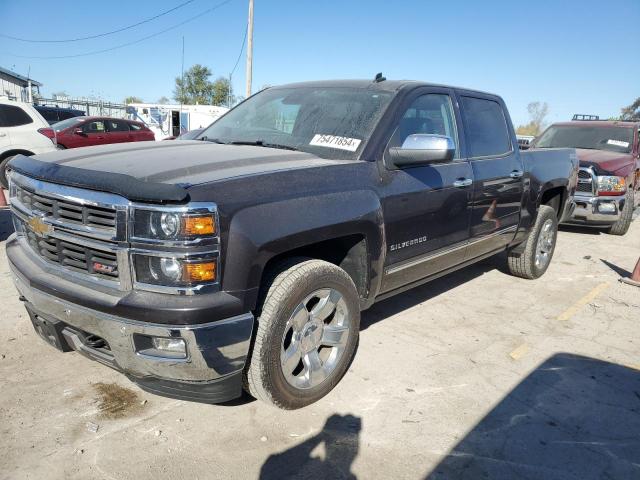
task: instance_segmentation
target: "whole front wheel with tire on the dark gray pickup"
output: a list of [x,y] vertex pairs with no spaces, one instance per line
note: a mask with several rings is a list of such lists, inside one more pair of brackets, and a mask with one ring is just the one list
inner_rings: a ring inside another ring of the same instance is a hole
[[307,259],[281,267],[265,288],[244,386],[278,408],[302,408],[329,393],[351,363],[358,293],[344,270]]

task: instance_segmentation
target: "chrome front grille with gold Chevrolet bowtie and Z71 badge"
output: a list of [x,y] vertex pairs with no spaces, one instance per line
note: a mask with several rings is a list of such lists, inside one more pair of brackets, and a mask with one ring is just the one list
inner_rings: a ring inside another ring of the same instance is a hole
[[48,268],[96,285],[131,289],[127,199],[16,172],[11,172],[9,196],[16,232]]

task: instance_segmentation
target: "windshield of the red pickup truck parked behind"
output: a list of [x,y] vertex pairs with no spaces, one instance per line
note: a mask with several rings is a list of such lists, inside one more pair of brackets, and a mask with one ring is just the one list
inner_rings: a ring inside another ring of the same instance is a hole
[[610,126],[552,125],[536,142],[537,148],[588,148],[629,153],[633,147],[633,129]]

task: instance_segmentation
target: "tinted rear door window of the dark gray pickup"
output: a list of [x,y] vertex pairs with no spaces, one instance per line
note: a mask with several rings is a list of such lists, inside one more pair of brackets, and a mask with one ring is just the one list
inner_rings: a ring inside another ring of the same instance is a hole
[[511,137],[502,107],[483,98],[462,97],[471,157],[503,155],[511,151]]

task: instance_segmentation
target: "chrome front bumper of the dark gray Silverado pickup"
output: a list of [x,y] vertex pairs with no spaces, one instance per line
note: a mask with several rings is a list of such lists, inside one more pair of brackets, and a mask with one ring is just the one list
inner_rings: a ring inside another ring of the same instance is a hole
[[[34,324],[56,324],[63,343],[58,347],[63,351],[75,350],[124,373],[144,390],[172,398],[220,403],[241,395],[242,369],[253,329],[251,313],[196,325],[141,322],[47,293],[31,282],[28,273],[33,272],[21,271],[20,262],[12,260],[17,259],[9,256],[15,286]],[[59,279],[58,283],[64,282]],[[149,306],[149,315],[161,308]],[[145,354],[136,340],[139,336],[181,338],[186,358]],[[88,337],[99,337],[107,346],[95,347],[95,342],[86,341]]]

